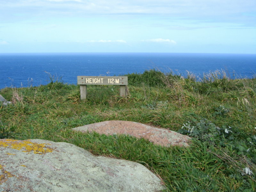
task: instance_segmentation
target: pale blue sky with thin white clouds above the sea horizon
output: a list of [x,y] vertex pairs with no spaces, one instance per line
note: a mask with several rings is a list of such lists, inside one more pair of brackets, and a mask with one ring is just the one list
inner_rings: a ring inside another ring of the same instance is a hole
[[256,0],[0,0],[0,53],[256,54]]

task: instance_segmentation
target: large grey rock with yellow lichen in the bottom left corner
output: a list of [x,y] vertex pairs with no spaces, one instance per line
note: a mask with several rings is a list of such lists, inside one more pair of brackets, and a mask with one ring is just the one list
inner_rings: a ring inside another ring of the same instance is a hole
[[163,190],[141,164],[93,156],[48,140],[0,140],[0,191],[125,192]]

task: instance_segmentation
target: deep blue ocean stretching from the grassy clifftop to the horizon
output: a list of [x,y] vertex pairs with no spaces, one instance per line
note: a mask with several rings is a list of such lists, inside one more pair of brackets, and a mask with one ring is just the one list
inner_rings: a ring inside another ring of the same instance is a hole
[[[230,78],[253,78],[256,54],[210,53],[0,53],[0,89],[55,80],[76,84],[76,76],[118,76],[157,69],[203,76],[225,70]],[[47,73],[46,73],[47,72]]]

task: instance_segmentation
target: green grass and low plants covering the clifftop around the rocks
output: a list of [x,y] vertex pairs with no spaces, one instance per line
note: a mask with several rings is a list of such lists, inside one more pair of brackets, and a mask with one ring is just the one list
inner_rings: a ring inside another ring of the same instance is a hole
[[[60,81],[4,88],[0,94],[13,104],[0,104],[0,136],[64,141],[135,161],[159,175],[167,191],[256,191],[255,78],[230,80],[220,71],[201,81],[156,70],[127,76],[127,98],[111,85],[88,86],[86,101],[79,100],[79,86]],[[166,148],[130,136],[71,131],[106,120],[140,122],[194,139],[189,148]]]

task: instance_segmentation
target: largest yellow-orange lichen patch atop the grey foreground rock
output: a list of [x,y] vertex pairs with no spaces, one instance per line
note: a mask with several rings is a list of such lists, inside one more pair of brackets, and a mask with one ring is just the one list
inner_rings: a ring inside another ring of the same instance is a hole
[[30,140],[12,140],[5,139],[0,141],[0,147],[22,150],[22,152],[31,152],[35,154],[44,154],[52,152],[52,148],[47,147],[46,143],[33,143]]

